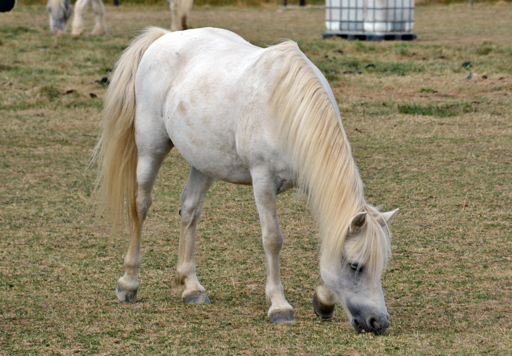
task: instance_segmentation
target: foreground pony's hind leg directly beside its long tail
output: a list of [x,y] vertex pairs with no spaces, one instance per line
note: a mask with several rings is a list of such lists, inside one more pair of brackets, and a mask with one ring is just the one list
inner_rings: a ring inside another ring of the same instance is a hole
[[[136,135],[137,136],[137,135]],[[121,302],[135,303],[137,301],[137,290],[139,288],[138,271],[140,266],[140,238],[142,226],[153,199],[151,191],[155,184],[158,171],[162,166],[167,153],[173,147],[168,138],[155,139],[158,135],[145,140],[141,144],[137,140],[139,157],[137,161],[137,196],[135,208],[139,218],[139,228],[132,232],[130,246],[124,257],[124,275],[117,281],[116,295]]]

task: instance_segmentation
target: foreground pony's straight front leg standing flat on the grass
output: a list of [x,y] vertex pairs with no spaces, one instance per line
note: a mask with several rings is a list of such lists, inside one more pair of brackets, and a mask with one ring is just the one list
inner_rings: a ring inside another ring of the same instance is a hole
[[280,275],[279,253],[283,248],[283,233],[279,227],[275,203],[276,186],[270,175],[254,171],[251,174],[267,259],[267,316],[272,324],[292,323],[295,321],[293,307],[286,301]]

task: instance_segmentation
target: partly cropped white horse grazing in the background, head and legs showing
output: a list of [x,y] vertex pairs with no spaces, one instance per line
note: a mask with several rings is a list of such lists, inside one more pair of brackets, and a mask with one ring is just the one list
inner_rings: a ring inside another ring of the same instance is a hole
[[[188,14],[192,8],[193,0],[167,0],[171,13],[171,31],[187,30]],[[102,36],[106,33],[105,6],[102,0],[77,0],[75,3],[75,16],[73,18],[72,35],[79,35],[85,31],[83,16],[89,5],[92,4],[95,26],[93,36]],[[68,20],[71,17],[70,0],[49,0],[47,10],[50,14],[50,29],[53,34],[66,33]]]

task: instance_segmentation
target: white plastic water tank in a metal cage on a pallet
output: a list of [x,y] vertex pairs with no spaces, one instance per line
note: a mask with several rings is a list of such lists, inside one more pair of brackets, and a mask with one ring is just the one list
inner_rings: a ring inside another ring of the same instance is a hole
[[326,0],[328,32],[411,32],[414,0]]

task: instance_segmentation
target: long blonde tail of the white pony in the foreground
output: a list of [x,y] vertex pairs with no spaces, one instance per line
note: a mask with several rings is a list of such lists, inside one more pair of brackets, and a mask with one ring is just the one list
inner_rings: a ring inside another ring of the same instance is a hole
[[124,209],[128,212],[130,232],[140,231],[135,204],[137,192],[137,158],[135,144],[135,75],[142,56],[161,36],[169,33],[148,27],[134,38],[117,60],[103,103],[101,134],[94,151],[99,172],[96,191],[99,204],[96,216],[112,221],[112,234],[124,226]]

